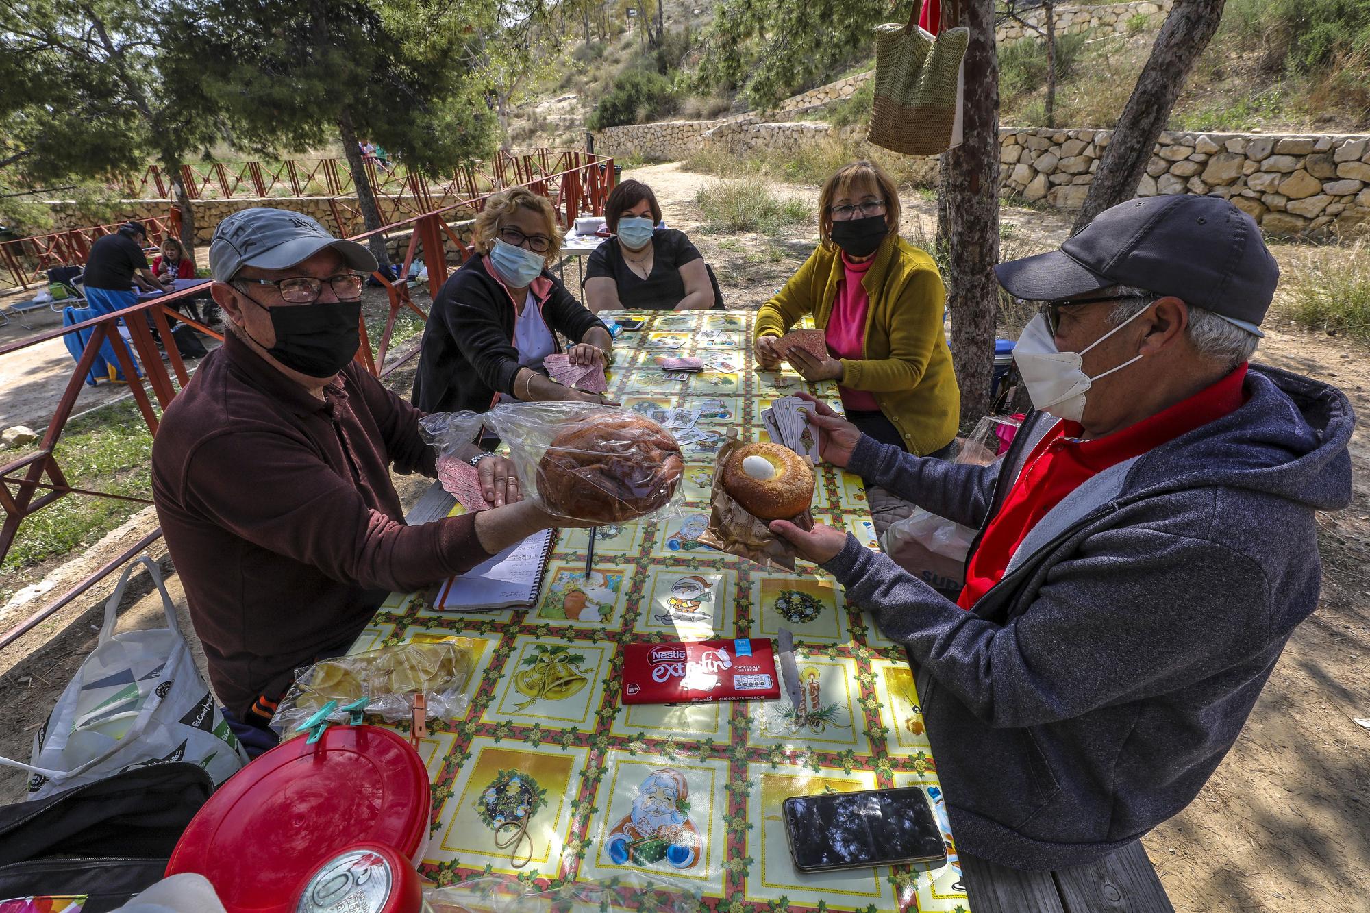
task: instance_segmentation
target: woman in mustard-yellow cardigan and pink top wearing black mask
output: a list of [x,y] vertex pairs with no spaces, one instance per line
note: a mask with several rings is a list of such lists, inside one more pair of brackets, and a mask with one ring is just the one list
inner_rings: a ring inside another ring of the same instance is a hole
[[[918,456],[949,456],[960,391],[943,333],[945,291],[926,251],[899,237],[899,193],[884,169],[855,162],[819,196],[818,249],[756,314],[756,359],[781,358],[806,380],[836,380],[847,418]],[[781,352],[804,314],[827,358]]]

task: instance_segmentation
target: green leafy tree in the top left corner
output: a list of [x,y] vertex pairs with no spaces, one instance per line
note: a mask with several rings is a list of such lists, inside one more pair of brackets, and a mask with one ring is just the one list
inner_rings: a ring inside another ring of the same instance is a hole
[[[211,143],[215,104],[195,67],[159,53],[170,22],[164,0],[0,3],[3,184],[107,178],[149,155],[177,174],[190,149]],[[182,237],[193,240],[189,206],[182,215]]]

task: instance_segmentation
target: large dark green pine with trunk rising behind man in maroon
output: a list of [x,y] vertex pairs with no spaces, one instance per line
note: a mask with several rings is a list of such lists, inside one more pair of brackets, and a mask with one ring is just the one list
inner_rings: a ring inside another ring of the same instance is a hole
[[[449,173],[493,145],[485,81],[469,78],[495,0],[171,0],[164,51],[196,60],[240,144],[342,141],[367,229],[381,226],[358,140],[411,170]],[[373,252],[385,262],[384,244]]]

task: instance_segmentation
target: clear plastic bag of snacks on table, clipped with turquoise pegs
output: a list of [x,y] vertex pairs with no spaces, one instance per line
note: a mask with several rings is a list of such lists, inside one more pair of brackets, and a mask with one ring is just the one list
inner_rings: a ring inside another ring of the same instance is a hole
[[325,659],[296,673],[271,728],[282,739],[300,735],[296,727],[330,701],[334,707],[325,720],[347,722],[349,714],[344,707],[359,698],[367,699],[366,713],[388,722],[411,720],[415,696],[421,694],[427,718],[460,718],[470,706],[466,685],[474,668],[475,650],[469,637],[401,643]]

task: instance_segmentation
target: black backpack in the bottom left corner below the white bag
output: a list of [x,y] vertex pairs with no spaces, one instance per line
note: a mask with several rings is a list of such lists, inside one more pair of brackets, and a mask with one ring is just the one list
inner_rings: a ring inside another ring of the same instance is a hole
[[85,894],[82,913],[122,906],[166,876],[212,791],[200,765],[167,762],[0,807],[0,902]]

